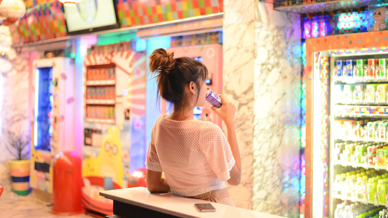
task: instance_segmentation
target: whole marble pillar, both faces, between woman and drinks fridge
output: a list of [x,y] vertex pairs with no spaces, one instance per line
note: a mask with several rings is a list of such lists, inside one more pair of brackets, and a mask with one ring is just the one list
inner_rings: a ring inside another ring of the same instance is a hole
[[237,107],[237,207],[298,217],[301,47],[298,14],[224,0],[223,93]]

